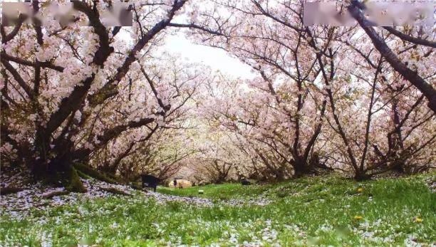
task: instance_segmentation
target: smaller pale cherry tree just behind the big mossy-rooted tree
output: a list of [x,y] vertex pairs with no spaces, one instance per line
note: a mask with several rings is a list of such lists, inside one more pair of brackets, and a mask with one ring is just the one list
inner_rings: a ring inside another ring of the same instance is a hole
[[[123,135],[115,137],[104,147],[95,149],[91,155],[91,163],[94,167],[109,174],[118,173],[125,179],[145,172],[160,174],[157,177],[163,179],[169,176],[169,171],[177,172],[177,167],[172,167],[170,164],[180,163],[181,159],[185,159],[187,154],[192,152],[187,148],[189,145],[177,145],[177,143],[182,142],[179,139],[184,139],[185,132],[190,128],[187,122],[194,115],[192,103],[198,94],[197,89],[204,80],[207,80],[207,68],[188,63],[180,64],[177,59],[164,54],[160,56],[159,61],[162,59],[165,61],[165,66],[158,65],[156,58],[148,59],[152,64],[150,68],[141,65],[137,71],[138,78],[132,78],[133,85],[129,88],[129,91],[135,93],[133,95],[126,93],[125,98],[114,102],[111,109],[122,115],[128,115],[125,104],[133,98],[144,96],[151,100],[150,106],[157,97],[158,105],[171,103],[172,107],[167,110],[161,122],[148,125],[147,130],[143,128],[126,130]],[[148,87],[143,90],[136,88],[144,87],[140,81],[147,82]],[[141,109],[146,110],[147,107]],[[185,140],[189,138],[186,137]]]

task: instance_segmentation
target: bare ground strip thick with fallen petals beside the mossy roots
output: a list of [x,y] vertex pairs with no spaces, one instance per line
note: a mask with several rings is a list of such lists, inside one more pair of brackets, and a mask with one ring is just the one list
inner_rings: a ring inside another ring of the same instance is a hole
[[[154,199],[157,204],[166,204],[167,202],[180,202],[194,206],[214,206],[214,201],[208,198],[199,198],[195,196],[175,196],[162,194],[153,191],[139,191],[130,186],[123,184],[108,184],[95,179],[81,179],[86,188],[85,193],[68,193],[56,195],[56,192],[66,192],[63,187],[52,188],[42,184],[25,184],[21,185],[22,191],[16,194],[1,196],[0,208],[4,213],[16,219],[24,219],[28,216],[31,209],[48,210],[54,206],[66,204],[77,204],[78,201],[90,199],[104,199],[115,196],[116,193],[108,191],[115,189],[118,193],[124,193],[128,197],[135,196],[140,199]],[[23,183],[21,183],[23,184]],[[54,196],[51,196],[54,195]],[[244,204],[263,206],[269,204],[267,199],[229,199],[222,201],[222,204],[230,206],[242,206]]]

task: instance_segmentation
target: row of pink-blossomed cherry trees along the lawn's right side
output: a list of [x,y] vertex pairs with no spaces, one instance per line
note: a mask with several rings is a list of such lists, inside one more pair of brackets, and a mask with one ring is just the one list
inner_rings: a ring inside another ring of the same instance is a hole
[[195,8],[191,22],[177,26],[259,75],[248,88],[225,85],[207,119],[237,135],[241,152],[276,179],[319,168],[355,179],[434,168],[434,29],[374,28],[359,1],[341,8],[356,26],[304,26],[303,1]]

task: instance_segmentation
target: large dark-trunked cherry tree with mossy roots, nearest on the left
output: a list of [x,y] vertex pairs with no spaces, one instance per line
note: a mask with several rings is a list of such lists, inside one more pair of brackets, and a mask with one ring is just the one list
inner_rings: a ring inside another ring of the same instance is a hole
[[137,130],[139,140],[147,139],[174,108],[170,85],[143,80],[153,66],[146,61],[185,2],[131,4],[132,28],[103,26],[100,13],[109,4],[83,1],[73,1],[79,14],[66,26],[38,1],[29,4],[45,23],[24,23],[21,14],[16,26],[2,24],[2,161],[64,183],[76,173],[73,162],[88,162],[124,132]]

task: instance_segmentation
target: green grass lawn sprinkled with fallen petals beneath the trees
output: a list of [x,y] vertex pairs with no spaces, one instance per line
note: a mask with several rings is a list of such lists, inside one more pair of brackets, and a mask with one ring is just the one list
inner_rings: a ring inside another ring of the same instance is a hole
[[[425,179],[432,176],[360,183],[329,176],[262,186],[158,189],[210,198],[212,207],[162,205],[138,193],[34,209],[21,221],[2,211],[0,246],[430,246],[436,243],[436,194]],[[271,203],[226,204],[259,197]]]

